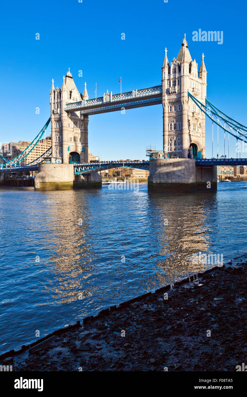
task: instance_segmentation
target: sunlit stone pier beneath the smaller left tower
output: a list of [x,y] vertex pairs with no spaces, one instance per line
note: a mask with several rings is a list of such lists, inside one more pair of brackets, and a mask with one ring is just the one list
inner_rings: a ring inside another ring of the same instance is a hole
[[67,190],[101,187],[98,172],[75,175],[73,164],[39,164],[38,174],[34,179],[35,190]]

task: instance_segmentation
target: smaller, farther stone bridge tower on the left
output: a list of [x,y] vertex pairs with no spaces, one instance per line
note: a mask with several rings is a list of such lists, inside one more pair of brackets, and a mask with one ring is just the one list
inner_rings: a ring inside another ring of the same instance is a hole
[[63,164],[88,162],[88,116],[80,112],[65,112],[68,102],[88,99],[86,83],[84,93],[79,93],[70,70],[63,76],[61,89],[55,89],[52,79],[50,91],[52,124],[52,157],[60,156]]

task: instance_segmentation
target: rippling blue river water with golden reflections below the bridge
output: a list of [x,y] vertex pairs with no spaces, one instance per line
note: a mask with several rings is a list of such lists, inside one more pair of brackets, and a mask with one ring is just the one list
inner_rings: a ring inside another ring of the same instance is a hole
[[[247,252],[247,182],[160,195],[0,189],[0,354]],[[193,255],[194,254],[194,255]]]

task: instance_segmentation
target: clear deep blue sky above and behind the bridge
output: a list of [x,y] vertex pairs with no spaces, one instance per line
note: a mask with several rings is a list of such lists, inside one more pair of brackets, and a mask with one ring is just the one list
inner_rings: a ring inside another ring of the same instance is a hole
[[[0,19],[2,142],[34,138],[50,115],[52,78],[61,87],[69,67],[80,92],[86,81],[90,98],[96,81],[97,96],[107,89],[120,92],[120,76],[122,91],[160,84],[165,47],[171,62],[184,33],[199,66],[205,54],[209,100],[247,125],[244,1],[13,1],[2,3]],[[199,29],[223,31],[223,44],[193,42],[192,32]],[[93,154],[100,152],[106,160],[144,159],[147,145],[162,147],[162,106],[89,116],[88,127]],[[211,129],[207,121],[207,157],[212,153]],[[230,156],[235,157],[231,142]],[[223,152],[224,144],[219,154]]]

